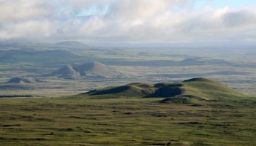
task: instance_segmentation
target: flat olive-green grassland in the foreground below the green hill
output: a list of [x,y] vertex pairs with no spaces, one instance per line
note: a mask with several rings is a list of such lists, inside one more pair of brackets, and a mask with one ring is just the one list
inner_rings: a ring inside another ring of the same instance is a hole
[[0,99],[0,145],[256,145],[254,99],[157,101]]

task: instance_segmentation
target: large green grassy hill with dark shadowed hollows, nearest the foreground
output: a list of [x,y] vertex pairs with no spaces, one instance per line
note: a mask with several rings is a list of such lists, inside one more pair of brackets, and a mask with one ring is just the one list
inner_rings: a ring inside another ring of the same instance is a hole
[[197,101],[236,100],[246,98],[220,82],[206,78],[193,78],[183,82],[132,83],[82,93],[91,98],[166,98],[161,103],[189,104]]

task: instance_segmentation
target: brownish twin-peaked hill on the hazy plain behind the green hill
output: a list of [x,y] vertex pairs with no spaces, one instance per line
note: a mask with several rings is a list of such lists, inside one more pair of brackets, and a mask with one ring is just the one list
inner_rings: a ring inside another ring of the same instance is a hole
[[91,62],[87,64],[68,64],[45,76],[55,76],[63,78],[78,77],[121,77],[124,76],[116,69],[101,64],[99,62]]

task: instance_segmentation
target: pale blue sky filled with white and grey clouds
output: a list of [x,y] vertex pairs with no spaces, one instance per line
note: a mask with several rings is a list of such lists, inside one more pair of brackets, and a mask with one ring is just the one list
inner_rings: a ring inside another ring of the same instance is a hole
[[1,42],[256,47],[255,0],[0,0]]

